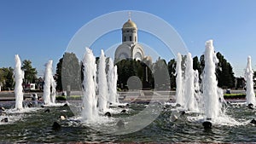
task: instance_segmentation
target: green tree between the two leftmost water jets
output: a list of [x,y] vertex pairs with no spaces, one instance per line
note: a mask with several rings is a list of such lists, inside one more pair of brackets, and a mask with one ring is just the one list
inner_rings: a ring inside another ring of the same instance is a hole
[[24,74],[24,80],[26,84],[32,84],[35,83],[37,79],[37,70],[36,68],[32,67],[32,61],[31,60],[23,60],[21,69],[25,72]]

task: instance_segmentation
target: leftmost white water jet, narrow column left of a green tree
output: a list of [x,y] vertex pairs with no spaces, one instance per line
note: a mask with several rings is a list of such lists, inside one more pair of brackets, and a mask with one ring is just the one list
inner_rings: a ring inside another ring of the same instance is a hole
[[24,72],[21,70],[21,62],[19,55],[15,55],[15,109],[23,109],[23,88],[22,82],[24,78]]

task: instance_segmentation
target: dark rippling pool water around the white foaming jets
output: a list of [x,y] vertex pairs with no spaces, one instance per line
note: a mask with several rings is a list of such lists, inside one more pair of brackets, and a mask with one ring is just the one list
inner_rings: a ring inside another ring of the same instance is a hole
[[[0,107],[12,103],[0,103]],[[255,142],[256,127],[253,124],[213,125],[212,130],[204,130],[201,123],[188,120],[185,114],[175,122],[170,121],[171,107],[162,109],[160,116],[142,130],[125,135],[113,135],[108,129],[116,128],[116,118],[130,117],[147,106],[131,104],[127,113],[113,114],[109,123],[80,124],[73,118],[69,107],[38,107],[36,111],[12,114],[18,121],[0,124],[0,142]],[[44,112],[49,108],[50,112]],[[122,109],[122,108],[120,108]],[[255,111],[247,107],[232,105],[226,114],[241,123],[255,118]],[[61,115],[67,120],[61,120]],[[143,119],[141,119],[143,121]],[[61,124],[61,130],[52,130],[54,122]],[[1,122],[0,122],[1,123]],[[106,129],[107,128],[107,129]],[[127,129],[127,128],[125,128]]]

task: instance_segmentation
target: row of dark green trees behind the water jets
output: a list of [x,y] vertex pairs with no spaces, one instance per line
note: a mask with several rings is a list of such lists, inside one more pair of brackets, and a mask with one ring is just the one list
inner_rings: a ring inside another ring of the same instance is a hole
[[[236,78],[233,67],[230,62],[224,58],[224,55],[217,53],[218,66],[216,76],[218,78],[218,87],[224,89],[235,88]],[[96,58],[96,63],[99,58]],[[186,55],[183,55],[183,70]],[[108,59],[106,60],[106,63]],[[137,76],[142,82],[142,88],[138,88],[136,83],[132,89],[174,89],[176,88],[176,60],[172,59],[166,62],[164,59],[158,59],[154,63],[144,60],[120,60],[116,63],[118,66],[118,88],[128,89],[127,81],[131,76]],[[203,72],[205,66],[204,55],[193,58],[193,69]],[[108,66],[107,66],[108,68]],[[24,84],[38,83],[36,68],[32,67],[31,60],[23,60],[21,69],[25,72]],[[106,70],[108,72],[108,70]],[[256,72],[254,72],[256,76]],[[83,82],[83,64],[73,53],[65,53],[56,65],[55,71],[56,89],[80,90]],[[44,79],[44,78],[43,78]],[[201,78],[200,78],[201,80]],[[14,89],[14,68],[0,68],[0,85],[3,90]],[[131,89],[130,88],[130,89]]]

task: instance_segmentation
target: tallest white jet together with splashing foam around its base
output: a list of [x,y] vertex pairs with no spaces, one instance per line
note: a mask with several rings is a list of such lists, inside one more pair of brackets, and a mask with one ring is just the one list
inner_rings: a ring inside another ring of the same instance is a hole
[[[224,91],[218,88],[216,78],[216,66],[218,58],[214,52],[212,40],[206,42],[206,50],[204,54],[205,67],[202,73],[202,84],[199,84],[198,72],[194,72],[195,100],[198,102],[199,112],[203,115],[196,117],[188,117],[189,121],[204,122],[210,120],[212,124],[217,125],[241,125],[235,118],[225,115]],[[201,91],[202,89],[202,91]]]

